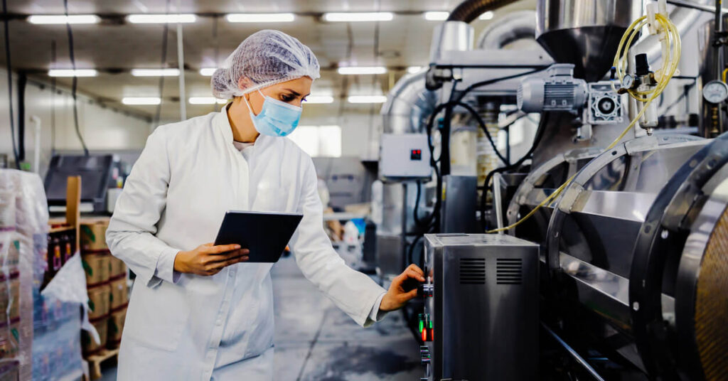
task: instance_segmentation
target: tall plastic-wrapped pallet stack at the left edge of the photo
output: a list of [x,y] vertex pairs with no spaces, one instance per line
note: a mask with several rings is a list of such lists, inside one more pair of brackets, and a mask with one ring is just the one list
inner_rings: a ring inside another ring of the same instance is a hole
[[[47,270],[47,240],[41,178],[0,170],[0,307],[7,306],[0,313],[0,380],[81,375],[79,303],[44,298],[39,290]],[[79,276],[85,288],[82,270]]]

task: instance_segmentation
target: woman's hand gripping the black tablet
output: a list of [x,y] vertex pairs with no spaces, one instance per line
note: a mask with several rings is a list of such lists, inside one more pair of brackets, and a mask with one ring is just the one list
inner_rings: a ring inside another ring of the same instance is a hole
[[175,271],[197,275],[215,275],[231,264],[248,260],[250,250],[240,245],[205,243],[192,251],[180,251],[175,256]]

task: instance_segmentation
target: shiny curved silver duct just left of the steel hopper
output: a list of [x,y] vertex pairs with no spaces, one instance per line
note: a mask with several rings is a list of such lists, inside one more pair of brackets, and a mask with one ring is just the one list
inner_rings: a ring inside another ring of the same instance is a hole
[[536,39],[536,12],[518,11],[500,17],[478,37],[478,49],[501,49],[519,39]]

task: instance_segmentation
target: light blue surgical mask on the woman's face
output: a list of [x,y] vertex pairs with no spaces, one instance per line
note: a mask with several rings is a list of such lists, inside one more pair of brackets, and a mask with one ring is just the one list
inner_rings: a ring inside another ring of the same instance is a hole
[[[261,93],[261,90],[258,90],[258,93]],[[253,119],[253,126],[258,133],[269,136],[285,136],[292,133],[298,126],[298,120],[301,119],[301,107],[277,101],[263,93],[261,95],[265,100],[258,115],[253,114],[253,108],[243,97],[250,110],[250,119]]]

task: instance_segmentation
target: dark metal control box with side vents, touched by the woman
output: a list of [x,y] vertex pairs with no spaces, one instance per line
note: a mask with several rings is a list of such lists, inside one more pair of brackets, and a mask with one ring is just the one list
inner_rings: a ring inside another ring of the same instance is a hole
[[425,235],[426,380],[536,380],[539,246],[510,235]]

